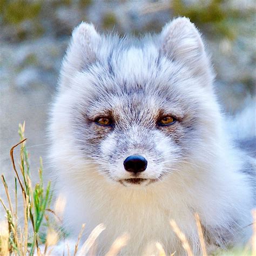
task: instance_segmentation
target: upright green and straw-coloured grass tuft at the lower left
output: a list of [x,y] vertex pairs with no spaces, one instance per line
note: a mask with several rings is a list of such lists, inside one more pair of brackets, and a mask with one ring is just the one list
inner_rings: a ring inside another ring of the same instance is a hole
[[[52,192],[51,182],[44,187],[43,185],[43,161],[40,158],[40,167],[38,170],[39,182],[33,186],[30,176],[29,153],[26,150],[26,139],[24,138],[25,122],[19,124],[18,133],[21,141],[13,146],[10,150],[10,157],[13,169],[15,171],[15,204],[13,205],[8,184],[5,181],[4,174],[1,180],[5,188],[5,194],[8,206],[0,198],[1,204],[6,213],[6,223],[4,224],[8,230],[8,239],[1,233],[0,254],[9,255],[33,255],[35,251],[39,251],[39,244],[42,243],[41,229],[44,217],[47,217],[46,209],[51,204]],[[14,160],[14,149],[21,146],[19,151],[20,163],[19,171],[16,168]],[[17,184],[18,181],[18,184]],[[18,185],[21,193],[18,192]],[[23,218],[18,213],[18,193],[23,198]],[[23,221],[21,221],[23,219]],[[23,222],[23,225],[21,224]],[[6,226],[7,225],[7,226]],[[5,228],[6,229],[6,228]],[[6,233],[4,233],[6,234]],[[8,253],[6,253],[8,248]]]

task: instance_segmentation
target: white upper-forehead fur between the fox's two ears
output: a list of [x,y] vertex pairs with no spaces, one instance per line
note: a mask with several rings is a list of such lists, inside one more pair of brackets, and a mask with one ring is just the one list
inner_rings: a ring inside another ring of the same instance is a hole
[[[185,65],[167,58],[157,45],[150,43],[125,50],[122,46],[116,49],[113,45],[111,47],[99,54],[96,62],[86,69],[91,74],[97,73],[98,80],[105,80],[109,76],[122,91],[143,88],[154,92],[156,89],[166,89],[161,85],[172,83],[173,80],[191,77]],[[117,91],[117,87],[114,90]]]

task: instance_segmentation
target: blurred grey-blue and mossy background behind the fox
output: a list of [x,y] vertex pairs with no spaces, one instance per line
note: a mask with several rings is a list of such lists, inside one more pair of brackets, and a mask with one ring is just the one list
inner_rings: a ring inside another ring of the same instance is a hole
[[[189,17],[212,55],[223,110],[233,114],[255,96],[255,11],[253,0],[0,0],[0,172],[13,183],[9,151],[24,120],[32,172],[39,156],[47,162],[50,103],[71,31],[81,21],[100,32],[137,36],[159,32],[173,17]],[[44,172],[50,171],[46,163]]]

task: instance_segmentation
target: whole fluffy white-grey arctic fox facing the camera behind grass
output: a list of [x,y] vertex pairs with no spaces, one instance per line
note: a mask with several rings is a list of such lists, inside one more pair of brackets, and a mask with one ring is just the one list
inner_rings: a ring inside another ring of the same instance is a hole
[[160,242],[194,254],[198,213],[208,250],[248,241],[255,206],[255,160],[225,128],[210,59],[187,18],[140,39],[99,35],[82,23],[60,72],[50,124],[57,190],[65,224],[85,238],[98,224],[104,255],[124,232],[122,255]]

